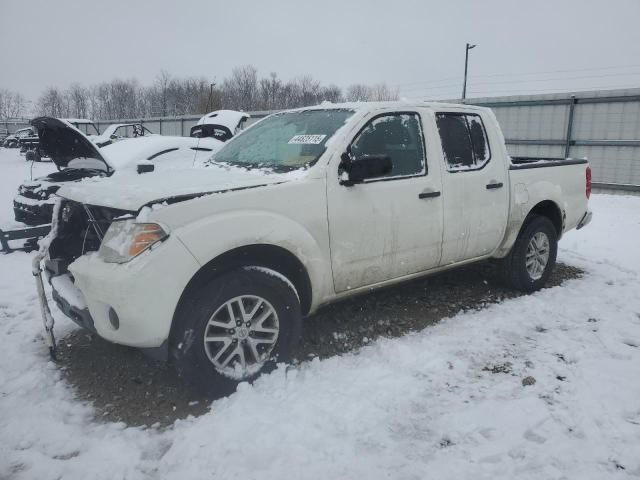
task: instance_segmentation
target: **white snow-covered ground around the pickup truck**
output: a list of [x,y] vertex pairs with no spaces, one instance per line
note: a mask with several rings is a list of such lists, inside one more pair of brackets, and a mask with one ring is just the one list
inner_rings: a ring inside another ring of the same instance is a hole
[[[0,149],[0,225],[20,162]],[[74,399],[30,255],[0,255],[0,478],[640,477],[640,198],[592,208],[559,253],[583,278],[279,369],[164,430],[95,421]],[[74,327],[57,319],[62,338]]]

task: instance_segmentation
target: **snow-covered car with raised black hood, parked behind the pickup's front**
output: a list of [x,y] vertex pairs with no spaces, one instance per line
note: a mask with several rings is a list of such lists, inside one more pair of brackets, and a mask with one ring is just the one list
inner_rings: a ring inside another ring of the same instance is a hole
[[202,165],[223,143],[213,138],[152,135],[125,139],[99,148],[69,122],[40,117],[31,122],[38,131],[39,148],[58,167],[45,177],[27,181],[13,200],[15,219],[27,225],[51,222],[53,195],[68,182],[118,174],[137,175],[142,169],[162,170]]

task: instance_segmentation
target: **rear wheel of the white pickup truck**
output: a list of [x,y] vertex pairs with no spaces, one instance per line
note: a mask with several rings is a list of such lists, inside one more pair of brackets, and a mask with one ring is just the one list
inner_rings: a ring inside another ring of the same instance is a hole
[[[545,257],[542,253],[545,250],[545,238],[548,252],[546,263],[539,260]],[[533,252],[537,246],[540,249],[536,253],[540,255]],[[522,292],[535,292],[547,283],[555,267],[557,254],[558,232],[555,226],[547,217],[533,215],[520,230],[509,254],[498,261],[498,270],[507,286]]]

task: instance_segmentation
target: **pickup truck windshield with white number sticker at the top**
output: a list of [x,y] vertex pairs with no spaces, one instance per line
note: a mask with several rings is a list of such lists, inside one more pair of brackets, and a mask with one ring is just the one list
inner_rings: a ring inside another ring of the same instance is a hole
[[274,170],[312,165],[351,115],[351,110],[337,109],[278,113],[230,140],[212,160]]

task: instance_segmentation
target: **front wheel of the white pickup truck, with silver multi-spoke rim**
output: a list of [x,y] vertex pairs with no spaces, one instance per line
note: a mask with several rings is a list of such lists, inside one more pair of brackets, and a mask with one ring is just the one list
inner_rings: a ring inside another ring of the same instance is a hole
[[[241,316],[238,299],[245,313],[258,309],[250,320],[260,321],[264,316],[266,320],[259,326],[257,323],[249,326],[251,322],[238,325]],[[256,306],[260,301],[263,303]],[[236,325],[230,320],[229,302],[236,315]],[[269,313],[270,308],[275,317]],[[277,363],[291,361],[301,324],[300,301],[292,285],[276,272],[244,267],[209,280],[188,294],[174,318],[169,348],[180,376],[205,395],[218,397],[235,391],[240,382],[251,382],[260,374],[273,370]],[[265,329],[271,333],[262,331]],[[277,330],[277,337],[274,343],[269,343],[274,339],[273,330]],[[235,342],[205,342],[205,332],[208,338],[224,337]],[[238,348],[244,353],[247,365],[244,370],[240,355],[236,353]],[[249,367],[251,359],[256,358],[254,351],[262,355],[264,361]],[[221,356],[216,365],[214,361],[218,354]],[[229,361],[228,365],[221,365],[225,360]]]

